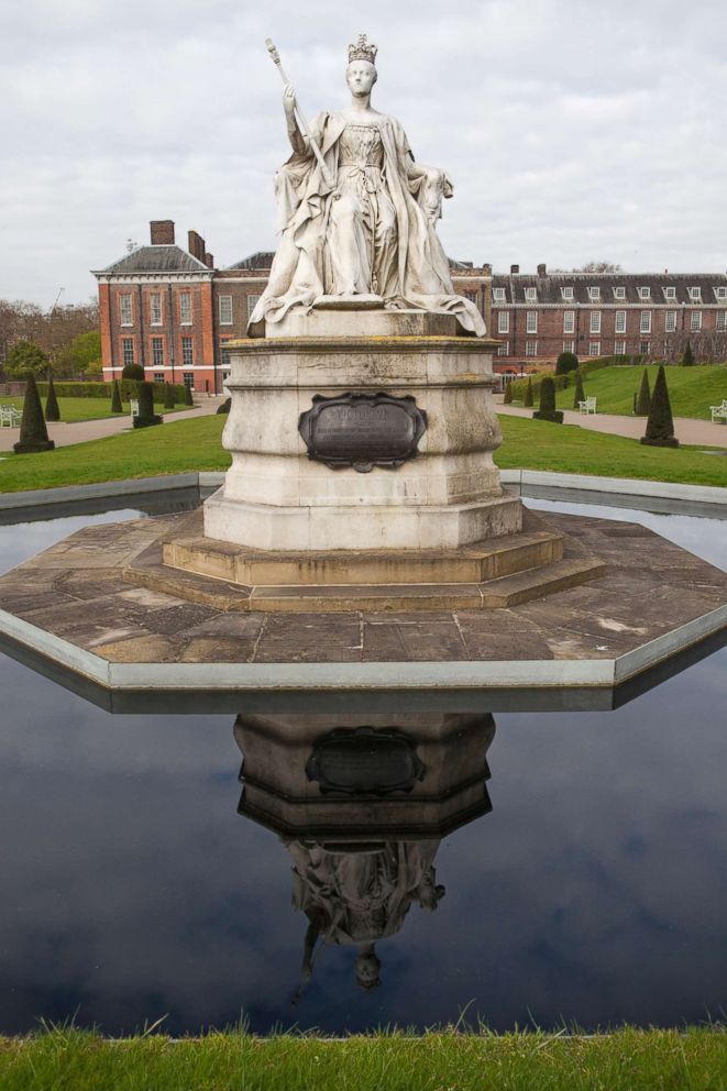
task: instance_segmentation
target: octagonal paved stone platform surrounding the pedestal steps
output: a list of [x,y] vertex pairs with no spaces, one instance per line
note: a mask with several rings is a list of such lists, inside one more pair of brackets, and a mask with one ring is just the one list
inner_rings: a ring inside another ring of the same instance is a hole
[[540,517],[605,562],[605,574],[502,609],[416,613],[235,611],[190,602],[126,578],[145,551],[161,553],[184,517],[90,527],[0,577],[0,638],[71,688],[95,687],[91,699],[111,694],[110,706],[134,710],[134,698],[148,708],[156,695],[159,712],[174,695],[192,712],[213,694],[229,695],[239,710],[260,694],[298,708],[306,693],[340,702],[384,691],[423,692],[430,704],[445,691],[484,694],[494,709],[497,694],[513,688],[554,695],[538,707],[568,707],[568,687],[595,687],[604,694],[596,707],[610,707],[627,680],[722,639],[726,573],[636,524]]

